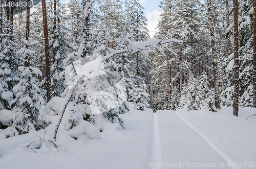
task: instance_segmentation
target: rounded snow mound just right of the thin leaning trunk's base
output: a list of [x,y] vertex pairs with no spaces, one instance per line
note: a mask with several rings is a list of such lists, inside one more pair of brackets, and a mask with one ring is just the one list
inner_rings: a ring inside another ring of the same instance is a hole
[[79,120],[77,125],[68,131],[68,135],[74,139],[78,139],[82,135],[87,135],[90,139],[98,139],[100,132],[93,124],[85,120]]

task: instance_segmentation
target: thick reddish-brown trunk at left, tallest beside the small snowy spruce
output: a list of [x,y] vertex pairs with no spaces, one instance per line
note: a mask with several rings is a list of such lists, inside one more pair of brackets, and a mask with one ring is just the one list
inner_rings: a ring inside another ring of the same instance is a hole
[[46,55],[46,96],[47,102],[52,98],[51,92],[51,64],[49,53],[49,39],[48,39],[48,26],[47,26],[47,14],[46,14],[46,1],[42,0],[42,18],[44,20],[44,35],[45,35],[45,55]]

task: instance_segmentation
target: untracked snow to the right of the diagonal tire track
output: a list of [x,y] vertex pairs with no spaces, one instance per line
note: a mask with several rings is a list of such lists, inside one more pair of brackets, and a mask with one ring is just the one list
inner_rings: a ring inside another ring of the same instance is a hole
[[[232,115],[232,107],[220,111],[177,111],[185,122],[194,128],[227,162],[256,161],[255,119],[246,120],[255,114],[255,108],[240,108],[239,117]],[[239,167],[234,167],[239,168]],[[250,167],[242,167],[250,168]]]

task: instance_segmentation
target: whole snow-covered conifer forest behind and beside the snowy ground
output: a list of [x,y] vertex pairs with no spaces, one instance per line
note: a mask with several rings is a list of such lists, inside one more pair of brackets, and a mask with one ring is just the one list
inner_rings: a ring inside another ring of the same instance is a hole
[[4,139],[60,151],[138,110],[256,117],[256,0],[162,0],[154,37],[139,0],[0,1]]

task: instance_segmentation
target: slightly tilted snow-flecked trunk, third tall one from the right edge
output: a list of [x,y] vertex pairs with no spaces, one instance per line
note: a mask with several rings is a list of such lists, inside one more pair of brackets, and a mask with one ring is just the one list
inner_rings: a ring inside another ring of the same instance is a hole
[[215,107],[220,109],[220,94],[219,94],[219,82],[218,82],[218,65],[217,65],[217,50],[216,50],[216,41],[214,36],[214,26],[213,26],[213,19],[212,10],[211,10],[211,0],[207,0],[208,3],[208,18],[209,18],[209,27],[210,27],[210,38],[211,38],[211,50],[212,50],[212,57],[213,57],[213,67],[214,67],[214,89],[215,89]]

